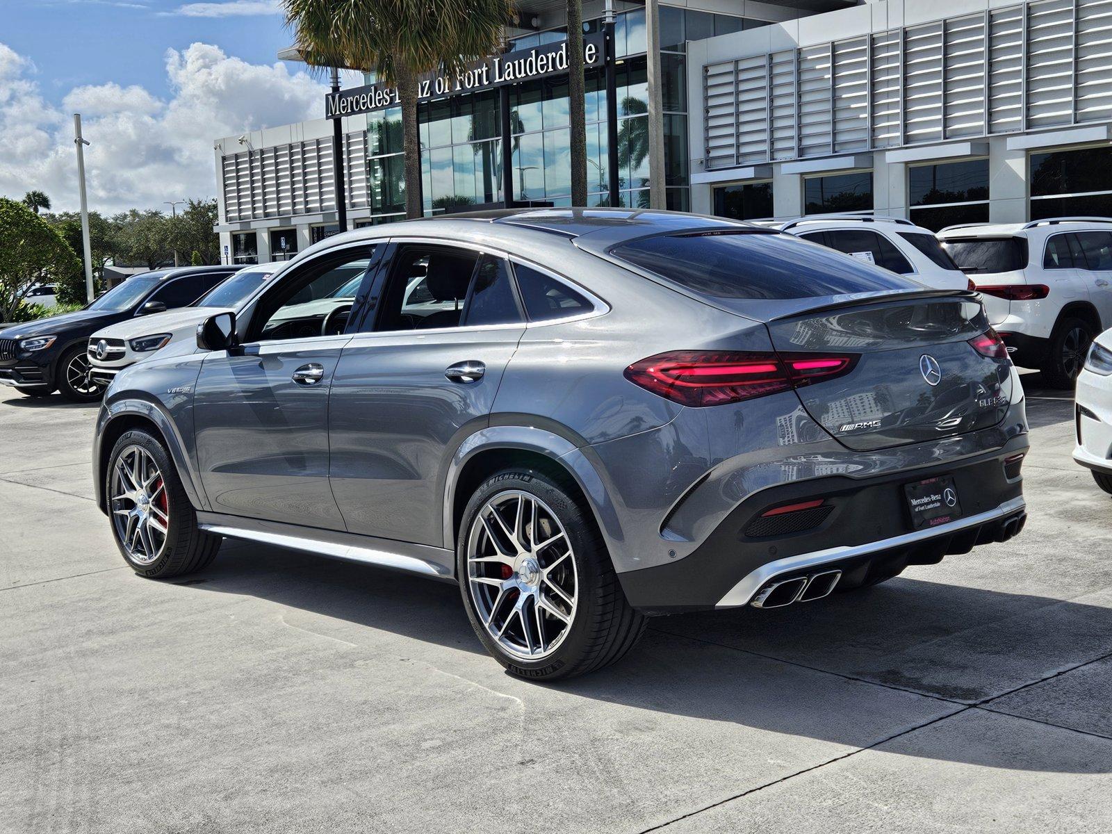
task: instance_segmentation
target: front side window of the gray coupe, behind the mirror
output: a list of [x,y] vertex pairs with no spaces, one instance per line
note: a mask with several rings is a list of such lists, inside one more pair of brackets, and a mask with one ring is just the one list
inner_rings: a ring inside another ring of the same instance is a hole
[[371,252],[360,247],[321,256],[282,276],[260,299],[251,336],[268,341],[344,332]]

